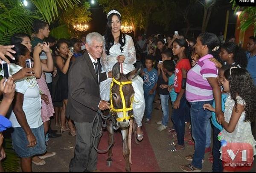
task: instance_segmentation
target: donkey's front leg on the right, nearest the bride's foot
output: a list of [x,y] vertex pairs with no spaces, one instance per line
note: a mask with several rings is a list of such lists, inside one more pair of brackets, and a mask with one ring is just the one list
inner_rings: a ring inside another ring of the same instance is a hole
[[122,129],[121,133],[122,133],[122,139],[123,139],[123,156],[125,157],[125,170],[127,172],[131,172],[131,167],[130,167],[130,162],[129,162],[130,150],[128,147],[129,128]]

